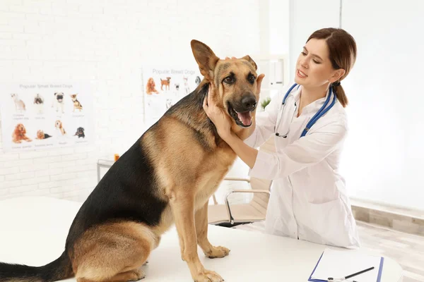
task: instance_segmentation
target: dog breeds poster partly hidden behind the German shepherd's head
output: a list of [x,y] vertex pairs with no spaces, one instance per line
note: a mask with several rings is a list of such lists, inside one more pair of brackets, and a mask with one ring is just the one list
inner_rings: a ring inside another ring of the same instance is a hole
[[165,111],[200,84],[203,76],[196,62],[193,63],[192,66],[143,67],[144,120],[148,125],[158,121]]

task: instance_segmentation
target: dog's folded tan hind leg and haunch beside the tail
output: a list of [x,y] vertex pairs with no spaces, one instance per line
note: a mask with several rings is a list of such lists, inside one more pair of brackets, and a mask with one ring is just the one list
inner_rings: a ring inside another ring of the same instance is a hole
[[156,245],[155,235],[141,223],[107,223],[90,228],[73,247],[78,282],[126,282],[144,278],[141,266]]

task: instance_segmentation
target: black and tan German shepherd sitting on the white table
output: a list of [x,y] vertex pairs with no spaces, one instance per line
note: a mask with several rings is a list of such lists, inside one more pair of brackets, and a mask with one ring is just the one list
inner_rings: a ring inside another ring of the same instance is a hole
[[192,40],[204,80],[168,109],[107,171],[82,204],[69,229],[64,252],[45,266],[0,264],[0,281],[137,281],[141,266],[175,223],[182,259],[194,281],[223,281],[204,268],[206,257],[230,250],[208,240],[208,199],[236,158],[203,109],[208,86],[232,118],[232,131],[252,134],[259,100],[257,65],[249,56],[220,60]]

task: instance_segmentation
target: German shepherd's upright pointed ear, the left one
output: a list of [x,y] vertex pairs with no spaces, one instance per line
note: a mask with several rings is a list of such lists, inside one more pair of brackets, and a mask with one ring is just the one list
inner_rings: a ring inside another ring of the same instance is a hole
[[199,65],[200,73],[206,78],[206,80],[213,80],[213,70],[215,69],[216,63],[219,58],[213,53],[212,49],[206,44],[192,40],[192,51],[194,59]]

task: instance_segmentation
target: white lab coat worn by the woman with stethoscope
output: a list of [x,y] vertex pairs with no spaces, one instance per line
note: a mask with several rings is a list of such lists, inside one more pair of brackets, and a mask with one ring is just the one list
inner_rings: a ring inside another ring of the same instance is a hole
[[[313,243],[358,248],[358,231],[338,173],[346,112],[336,104],[304,137],[302,130],[326,98],[305,106],[297,117],[301,87],[294,88],[282,106],[285,91],[274,97],[266,111],[257,113],[254,133],[245,140],[259,147],[275,133],[276,153],[259,151],[249,176],[273,180],[266,213],[266,232]],[[327,95],[329,92],[327,92]],[[332,99],[332,97],[331,97]],[[330,100],[331,102],[331,100]]]

